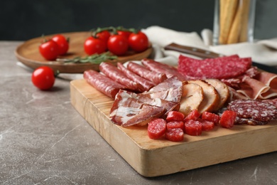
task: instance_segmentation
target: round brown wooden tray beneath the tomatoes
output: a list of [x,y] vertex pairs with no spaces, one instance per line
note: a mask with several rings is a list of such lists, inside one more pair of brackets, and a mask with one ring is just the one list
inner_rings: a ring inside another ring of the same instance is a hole
[[[70,48],[65,56],[59,56],[59,58],[75,58],[85,57],[87,54],[84,51],[85,39],[90,36],[90,32],[72,32],[72,33],[60,33],[66,38],[70,38]],[[45,36],[45,38],[51,38],[53,35]],[[36,69],[42,65],[47,65],[53,70],[59,70],[60,73],[83,73],[87,69],[99,70],[99,64],[92,63],[61,63],[58,61],[45,60],[38,51],[43,38],[33,38],[16,48],[16,58],[21,63],[27,65],[30,68]],[[152,52],[151,44],[146,51],[141,53],[134,53],[134,51],[128,51],[126,55],[118,57],[116,60],[107,60],[110,63],[116,64],[117,62],[125,63],[129,60],[141,60],[148,58]]]

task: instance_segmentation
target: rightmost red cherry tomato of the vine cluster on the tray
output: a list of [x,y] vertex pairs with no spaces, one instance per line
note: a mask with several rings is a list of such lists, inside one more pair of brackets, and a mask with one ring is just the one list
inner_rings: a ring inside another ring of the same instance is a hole
[[139,33],[131,33],[129,46],[136,52],[145,51],[148,48],[148,37],[141,31]]

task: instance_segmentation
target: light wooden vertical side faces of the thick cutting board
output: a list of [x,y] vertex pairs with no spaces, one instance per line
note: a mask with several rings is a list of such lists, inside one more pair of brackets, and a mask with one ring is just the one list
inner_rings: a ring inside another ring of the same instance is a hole
[[277,151],[277,126],[224,135],[220,139],[212,137],[169,147],[143,148],[75,87],[78,82],[70,82],[72,106],[142,176],[174,174]]

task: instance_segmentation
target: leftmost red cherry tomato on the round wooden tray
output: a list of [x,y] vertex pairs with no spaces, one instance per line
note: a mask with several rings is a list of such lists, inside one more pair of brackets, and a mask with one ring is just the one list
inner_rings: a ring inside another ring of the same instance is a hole
[[39,51],[46,60],[55,60],[59,55],[59,46],[55,41],[49,40],[40,44]]

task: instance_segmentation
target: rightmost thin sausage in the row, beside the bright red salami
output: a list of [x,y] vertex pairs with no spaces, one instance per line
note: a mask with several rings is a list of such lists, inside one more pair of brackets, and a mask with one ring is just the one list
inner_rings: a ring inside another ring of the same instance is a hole
[[145,65],[149,70],[155,71],[156,73],[164,73],[167,78],[176,76],[181,81],[187,80],[184,75],[178,72],[177,68],[165,63],[159,63],[148,58],[141,60],[141,63],[143,63],[143,65]]

